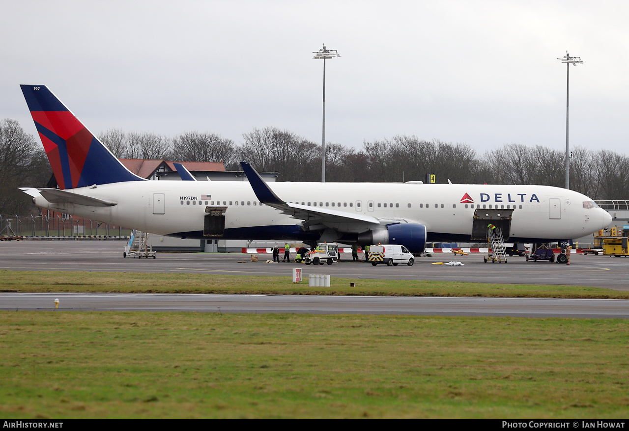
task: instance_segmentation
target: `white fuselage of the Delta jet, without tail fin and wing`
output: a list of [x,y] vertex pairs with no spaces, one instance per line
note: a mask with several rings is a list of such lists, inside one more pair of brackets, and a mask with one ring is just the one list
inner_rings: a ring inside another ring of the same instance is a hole
[[[522,239],[582,237],[611,221],[605,210],[584,205],[591,202],[585,195],[548,186],[294,182],[269,183],[269,186],[286,202],[418,222],[426,226],[429,237],[469,237],[474,211],[488,209],[490,205],[513,209],[511,237]],[[301,220],[260,204],[248,182],[135,181],[68,191],[117,204],[109,207],[51,204],[41,196],[35,198],[35,204],[172,236],[203,237],[208,206],[227,207],[225,237],[228,239],[278,239],[272,237],[277,236],[278,229],[286,227],[298,232],[296,227],[301,227]],[[374,228],[373,224],[360,221],[323,224],[323,229],[337,232],[358,233]]]

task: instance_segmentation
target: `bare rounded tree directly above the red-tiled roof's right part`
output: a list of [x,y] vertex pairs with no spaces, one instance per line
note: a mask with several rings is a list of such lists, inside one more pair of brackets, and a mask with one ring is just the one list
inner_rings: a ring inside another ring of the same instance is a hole
[[236,161],[236,151],[231,139],[223,139],[214,133],[191,131],[172,139],[170,157],[181,161],[222,161],[230,166]]

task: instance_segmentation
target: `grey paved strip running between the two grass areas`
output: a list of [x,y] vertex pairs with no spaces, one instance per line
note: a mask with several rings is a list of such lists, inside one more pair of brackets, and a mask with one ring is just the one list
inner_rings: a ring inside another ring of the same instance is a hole
[[177,293],[0,293],[0,310],[411,314],[629,319],[629,300]]

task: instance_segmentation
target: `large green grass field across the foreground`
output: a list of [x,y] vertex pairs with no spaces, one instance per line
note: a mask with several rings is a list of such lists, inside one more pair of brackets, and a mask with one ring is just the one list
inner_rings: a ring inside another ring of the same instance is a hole
[[625,418],[625,320],[0,313],[4,418]]

